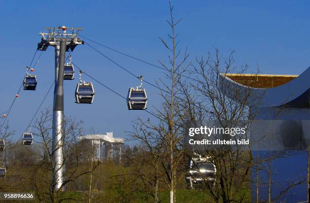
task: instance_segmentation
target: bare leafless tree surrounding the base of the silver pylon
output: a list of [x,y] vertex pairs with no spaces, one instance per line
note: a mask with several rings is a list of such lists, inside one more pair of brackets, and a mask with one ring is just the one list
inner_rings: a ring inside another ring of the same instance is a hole
[[61,168],[65,168],[66,172],[60,190],[55,191],[54,186],[56,181],[53,178],[53,172],[56,167],[54,160],[56,149],[52,149],[51,120],[52,114],[50,110],[46,109],[34,125],[35,135],[38,143],[42,147],[43,153],[38,154],[40,155],[40,160],[33,167],[33,173],[30,177],[31,183],[35,188],[37,198],[41,202],[54,203],[70,199],[76,200],[74,197],[75,192],[68,195],[61,190],[65,189],[70,182],[74,182],[79,177],[91,174],[100,163],[92,164],[92,167],[89,168],[88,163],[82,161],[84,148],[82,148],[83,145],[78,140],[78,137],[83,134],[83,128],[81,127],[82,121],[75,121],[73,118],[65,117],[63,123],[63,145],[58,147],[61,147],[63,150],[64,161]]

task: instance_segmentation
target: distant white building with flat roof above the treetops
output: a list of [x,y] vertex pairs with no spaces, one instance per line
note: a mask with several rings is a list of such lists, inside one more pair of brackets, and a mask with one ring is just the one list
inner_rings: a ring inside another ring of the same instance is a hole
[[[113,138],[113,132],[106,132],[102,134],[90,134],[79,137],[79,140],[89,140],[90,147],[95,150],[95,158],[101,160],[101,154],[104,152],[104,158],[112,159],[114,154],[118,154],[121,161],[122,145],[124,145],[124,138]],[[103,151],[104,150],[104,151]],[[115,153],[116,152],[116,153]]]

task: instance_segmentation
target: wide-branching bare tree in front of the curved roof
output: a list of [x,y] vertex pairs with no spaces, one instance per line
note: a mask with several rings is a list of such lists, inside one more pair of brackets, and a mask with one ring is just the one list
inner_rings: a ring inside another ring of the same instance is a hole
[[[184,98],[180,103],[188,121],[201,124],[207,119],[218,121],[222,126],[229,126],[253,117],[252,104],[248,100],[250,92],[230,91],[234,93],[235,98],[227,98],[226,91],[223,89],[229,89],[229,87],[223,87],[221,84],[221,74],[228,72],[242,74],[249,68],[248,65],[239,68],[234,65],[234,53],[232,51],[228,57],[221,57],[219,50],[215,49],[214,56],[208,53],[206,59],[198,58],[189,72],[193,79],[179,83],[178,88]],[[241,95],[244,96],[241,97]],[[205,187],[215,202],[249,200],[246,188],[249,188],[252,166],[250,150],[221,148],[199,151],[199,153],[209,157],[209,161],[216,166],[215,186],[206,184]]]

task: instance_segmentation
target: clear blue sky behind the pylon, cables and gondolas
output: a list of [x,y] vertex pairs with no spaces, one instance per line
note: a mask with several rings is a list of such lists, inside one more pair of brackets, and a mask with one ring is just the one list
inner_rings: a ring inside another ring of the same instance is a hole
[[[310,2],[308,1],[173,1],[180,47],[188,46],[190,60],[219,48],[223,55],[236,50],[236,64],[259,64],[265,74],[300,74],[310,64]],[[167,1],[0,1],[0,111],[14,99],[45,26],[83,27],[81,33],[98,42],[151,63],[167,61],[159,36],[167,38]],[[98,47],[103,53],[150,82],[163,77],[161,70]],[[107,61],[87,45],[74,50],[73,62],[105,85],[126,96],[137,79]],[[35,68],[37,91],[22,91],[9,116],[16,138],[27,126],[54,78],[54,51],[43,53]],[[77,77],[77,75],[76,75]],[[85,77],[86,80],[89,78]],[[78,82],[66,80],[65,114],[85,121],[88,129],[113,131],[126,137],[131,121],[151,115],[128,111],[119,96],[95,85],[92,105],[74,103]],[[148,109],[159,106],[158,90],[145,84]],[[43,107],[52,107],[52,92]]]

